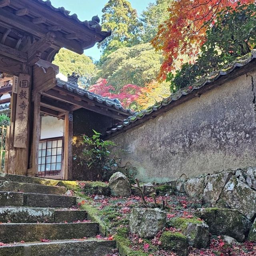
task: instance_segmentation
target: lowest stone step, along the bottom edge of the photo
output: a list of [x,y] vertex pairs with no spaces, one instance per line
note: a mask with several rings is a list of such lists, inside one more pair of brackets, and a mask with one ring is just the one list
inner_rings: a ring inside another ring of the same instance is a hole
[[106,256],[115,248],[114,241],[66,240],[0,246],[1,256]]

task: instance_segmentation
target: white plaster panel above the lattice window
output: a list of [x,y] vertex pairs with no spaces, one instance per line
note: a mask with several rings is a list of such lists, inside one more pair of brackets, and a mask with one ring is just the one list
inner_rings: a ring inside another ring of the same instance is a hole
[[41,140],[61,137],[64,133],[64,120],[54,116],[43,116],[41,119]]

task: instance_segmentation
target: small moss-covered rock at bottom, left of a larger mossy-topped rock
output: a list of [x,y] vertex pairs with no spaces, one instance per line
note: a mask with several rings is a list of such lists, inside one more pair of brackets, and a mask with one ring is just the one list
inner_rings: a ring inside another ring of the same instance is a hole
[[172,250],[180,256],[188,255],[188,239],[179,232],[165,231],[160,237],[161,247]]

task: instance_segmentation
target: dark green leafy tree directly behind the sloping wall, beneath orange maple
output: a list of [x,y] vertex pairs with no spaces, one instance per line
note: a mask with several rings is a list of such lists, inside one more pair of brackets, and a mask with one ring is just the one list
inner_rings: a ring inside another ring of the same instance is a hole
[[169,73],[171,91],[192,85],[196,80],[222,68],[256,46],[256,5],[239,4],[216,16],[214,26],[206,30],[206,42],[194,64],[185,63],[176,74]]

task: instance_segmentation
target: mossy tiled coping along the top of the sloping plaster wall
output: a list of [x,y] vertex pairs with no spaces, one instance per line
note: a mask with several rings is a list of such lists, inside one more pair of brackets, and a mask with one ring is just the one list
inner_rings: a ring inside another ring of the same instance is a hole
[[[252,52],[250,52],[249,54],[246,54],[245,56],[237,58],[235,61],[224,66],[224,68],[222,68],[221,70],[212,72],[209,76],[206,76],[206,77],[198,80],[198,82],[196,82],[192,86],[182,88],[178,92],[171,94],[169,97],[165,98],[161,102],[156,103],[154,106],[151,106],[151,107],[147,108],[146,110],[142,110],[141,112],[128,117],[124,121],[120,122],[118,125],[112,127],[110,130],[108,130],[106,132],[106,135],[110,135],[114,132],[117,132],[118,130],[121,130],[125,126],[129,126],[131,123],[134,123],[137,120],[144,118],[145,116],[151,114],[152,112],[160,110],[160,108],[162,108],[163,106],[167,106],[167,105],[171,104],[173,101],[178,100],[183,95],[188,95],[191,92],[202,88],[206,84],[210,84],[210,83],[218,80],[220,77],[230,74],[237,67],[246,66],[248,63],[250,63],[255,58],[256,58],[256,50],[252,50]],[[157,114],[157,112],[156,112],[156,114]]]

